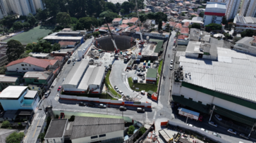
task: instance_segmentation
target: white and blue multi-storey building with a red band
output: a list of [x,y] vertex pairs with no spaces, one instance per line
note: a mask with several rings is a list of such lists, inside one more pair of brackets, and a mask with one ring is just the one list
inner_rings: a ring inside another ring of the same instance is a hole
[[222,18],[226,14],[225,3],[207,3],[205,8],[204,26],[210,23],[221,24]]

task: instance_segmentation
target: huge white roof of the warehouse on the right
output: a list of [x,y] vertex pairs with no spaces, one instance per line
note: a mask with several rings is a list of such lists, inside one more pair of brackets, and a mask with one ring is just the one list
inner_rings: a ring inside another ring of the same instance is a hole
[[181,56],[183,81],[256,102],[256,57],[228,48],[217,54],[218,61]]

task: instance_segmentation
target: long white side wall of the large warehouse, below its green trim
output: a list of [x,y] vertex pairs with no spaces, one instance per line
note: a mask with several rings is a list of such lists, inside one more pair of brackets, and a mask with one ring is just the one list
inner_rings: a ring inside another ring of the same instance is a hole
[[202,102],[202,104],[215,104],[224,109],[228,109],[230,111],[237,112],[239,114],[243,114],[245,116],[249,116],[251,118],[256,118],[256,110],[250,109],[248,107],[243,107],[239,104],[229,102],[227,100],[222,100],[218,97],[213,97],[212,95],[207,95],[205,93],[198,92],[196,90],[181,87],[180,95],[184,95],[185,98],[192,98],[195,102]]

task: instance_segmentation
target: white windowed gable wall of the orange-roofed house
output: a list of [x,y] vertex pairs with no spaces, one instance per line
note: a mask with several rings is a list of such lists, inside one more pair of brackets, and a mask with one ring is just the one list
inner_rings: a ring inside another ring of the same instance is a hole
[[[24,66],[22,66],[21,64],[24,64]],[[27,64],[25,62],[14,64],[14,65],[8,66],[6,68],[7,68],[8,71],[18,71],[18,72],[45,71],[46,70],[43,67],[37,67],[33,64]],[[25,68],[25,70],[23,70],[23,68]]]

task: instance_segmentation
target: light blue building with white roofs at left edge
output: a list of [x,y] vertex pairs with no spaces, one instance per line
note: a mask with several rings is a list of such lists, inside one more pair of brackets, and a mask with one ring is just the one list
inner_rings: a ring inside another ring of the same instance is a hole
[[39,97],[36,90],[28,90],[27,86],[8,86],[0,93],[0,102],[5,111],[18,109],[35,111]]

